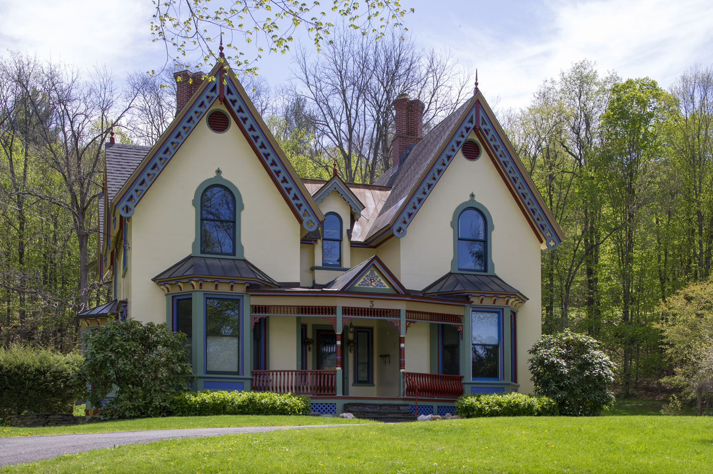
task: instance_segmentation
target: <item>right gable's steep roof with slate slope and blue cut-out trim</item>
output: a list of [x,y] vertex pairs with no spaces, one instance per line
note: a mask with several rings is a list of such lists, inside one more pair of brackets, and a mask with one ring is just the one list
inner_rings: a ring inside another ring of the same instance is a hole
[[473,130],[540,242],[550,249],[562,242],[562,230],[479,91],[426,135],[403,163],[376,181],[391,185],[392,190],[366,242],[373,244],[390,233],[406,235],[416,213]]

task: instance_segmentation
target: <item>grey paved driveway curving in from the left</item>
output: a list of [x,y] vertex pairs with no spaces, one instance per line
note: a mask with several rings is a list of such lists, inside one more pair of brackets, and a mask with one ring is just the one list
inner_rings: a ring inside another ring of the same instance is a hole
[[364,426],[358,424],[308,425],[308,426],[248,426],[237,428],[187,428],[184,430],[112,431],[109,433],[70,433],[44,436],[14,436],[0,438],[0,465],[29,463],[58,455],[73,454],[114,445],[150,443],[170,438],[197,438],[237,433],[263,433],[265,431],[302,428],[329,428],[331,426]]

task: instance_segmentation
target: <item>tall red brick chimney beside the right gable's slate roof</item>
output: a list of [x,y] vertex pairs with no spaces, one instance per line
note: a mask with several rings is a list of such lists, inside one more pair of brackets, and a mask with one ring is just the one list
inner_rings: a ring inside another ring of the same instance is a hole
[[424,138],[424,105],[409,94],[399,94],[394,105],[394,141],[391,142],[391,166],[399,165],[411,148]]

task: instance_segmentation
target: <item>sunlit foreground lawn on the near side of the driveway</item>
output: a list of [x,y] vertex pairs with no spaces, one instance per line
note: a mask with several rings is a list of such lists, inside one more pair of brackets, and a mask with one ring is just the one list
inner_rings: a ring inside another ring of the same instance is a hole
[[158,441],[0,473],[709,473],[713,420],[473,418]]

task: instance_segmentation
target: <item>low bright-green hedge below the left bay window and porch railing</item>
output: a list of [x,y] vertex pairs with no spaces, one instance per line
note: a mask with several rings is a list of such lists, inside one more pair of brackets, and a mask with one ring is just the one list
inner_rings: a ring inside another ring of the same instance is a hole
[[309,415],[309,397],[292,393],[204,390],[178,393],[171,400],[174,416]]

